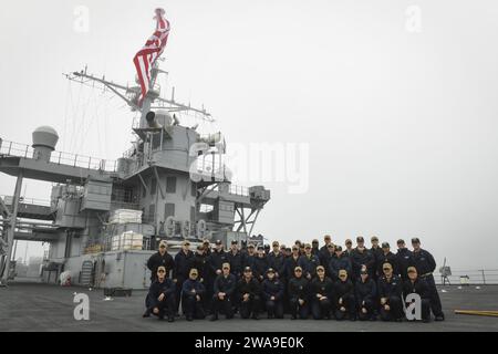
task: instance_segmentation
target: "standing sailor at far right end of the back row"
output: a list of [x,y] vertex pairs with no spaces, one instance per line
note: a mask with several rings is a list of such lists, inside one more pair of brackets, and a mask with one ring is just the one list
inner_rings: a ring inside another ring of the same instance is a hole
[[445,314],[443,313],[439,293],[437,292],[433,277],[433,272],[436,269],[436,261],[434,260],[433,254],[421,248],[421,240],[418,238],[412,239],[412,246],[413,266],[417,269],[418,277],[424,279],[429,287],[430,310],[433,311],[436,321],[444,321]]

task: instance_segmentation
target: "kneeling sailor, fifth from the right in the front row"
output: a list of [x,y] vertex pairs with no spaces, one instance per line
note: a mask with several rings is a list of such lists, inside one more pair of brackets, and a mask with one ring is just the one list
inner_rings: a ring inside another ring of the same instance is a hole
[[325,277],[325,268],[317,267],[317,278],[311,281],[311,313],[314,320],[330,320],[333,283]]

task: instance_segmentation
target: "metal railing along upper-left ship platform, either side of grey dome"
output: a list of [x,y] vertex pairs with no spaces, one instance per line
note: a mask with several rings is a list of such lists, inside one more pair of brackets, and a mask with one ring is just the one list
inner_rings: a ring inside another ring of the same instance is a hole
[[[34,149],[27,145],[0,139],[0,155],[33,158]],[[105,171],[116,171],[116,162],[91,157],[80,154],[63,152],[52,152],[50,162],[58,165],[98,169]]]

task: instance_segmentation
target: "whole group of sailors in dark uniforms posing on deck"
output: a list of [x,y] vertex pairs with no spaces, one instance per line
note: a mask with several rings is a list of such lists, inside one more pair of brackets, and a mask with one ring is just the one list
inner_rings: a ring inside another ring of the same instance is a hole
[[178,316],[180,304],[187,321],[216,321],[220,313],[232,319],[258,320],[262,312],[269,319],[292,320],[336,319],[351,321],[403,321],[412,296],[422,300],[422,317],[428,322],[430,312],[436,321],[444,321],[440,299],[433,272],[434,257],[421,248],[418,238],[412,239],[413,249],[397,240],[393,253],[388,242],[380,244],[371,238],[371,248],[363,237],[344,242],[344,249],[334,244],[330,236],[324,244],[297,240],[291,248],[272,242],[269,247],[242,244],[232,241],[228,251],[221,241],[215,247],[208,240],[190,250],[184,241],[173,258],[167,242],[160,241],[158,252],[147,267],[152,283],[146,298],[144,316],[154,314],[169,322]]

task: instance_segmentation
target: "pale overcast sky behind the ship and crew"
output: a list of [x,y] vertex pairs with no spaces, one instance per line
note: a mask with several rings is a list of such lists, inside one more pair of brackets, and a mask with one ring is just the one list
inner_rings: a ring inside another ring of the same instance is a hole
[[[271,189],[256,232],[393,247],[417,236],[438,263],[498,267],[496,1],[18,0],[0,12],[0,137],[30,144],[51,125],[58,149],[120,157],[134,115],[62,73],[87,64],[132,83],[157,6],[172,22],[162,67],[176,98],[204,103],[229,148],[308,156],[302,192],[291,176],[236,176]],[[12,194],[14,179],[0,186]],[[25,196],[49,199],[50,186],[28,180]]]

